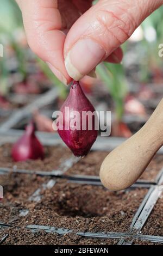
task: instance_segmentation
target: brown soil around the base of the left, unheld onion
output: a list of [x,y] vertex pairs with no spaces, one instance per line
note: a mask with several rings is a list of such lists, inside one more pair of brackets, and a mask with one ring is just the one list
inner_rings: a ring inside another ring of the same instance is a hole
[[4,144],[0,147],[0,167],[26,169],[26,170],[56,170],[62,162],[68,157],[72,156],[68,148],[44,147],[45,159],[42,160],[28,160],[26,162],[14,162],[11,158],[11,144]]

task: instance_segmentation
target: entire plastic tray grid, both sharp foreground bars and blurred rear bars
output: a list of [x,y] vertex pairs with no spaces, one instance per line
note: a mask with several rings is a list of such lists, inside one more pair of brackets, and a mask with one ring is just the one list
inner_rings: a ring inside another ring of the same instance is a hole
[[[0,145],[6,142],[14,142],[20,135],[22,131],[12,130],[12,127],[18,123],[23,117],[26,117],[29,113],[37,107],[40,108],[45,106],[47,103],[51,102],[54,99],[57,99],[58,92],[56,89],[49,90],[47,93],[43,94],[39,97],[35,102],[30,103],[28,106],[22,108],[20,111],[14,112],[12,117],[10,117],[7,121],[5,121],[0,127]],[[5,138],[4,138],[5,136]],[[40,138],[41,142],[45,145],[64,145],[57,134],[49,135],[45,132],[37,132],[37,136]],[[101,138],[98,137],[97,142],[93,145],[93,150],[112,150],[117,145],[121,144],[124,141],[122,138]],[[108,147],[108,144],[109,147]],[[159,150],[159,153],[163,153],[163,149]],[[13,169],[12,172],[15,173],[23,173],[23,174],[36,174],[41,176],[49,176],[49,180],[46,184],[42,184],[41,187],[38,187],[37,190],[28,198],[28,200],[33,200],[34,202],[39,202],[41,195],[40,192],[46,190],[49,187],[55,186],[57,184],[58,179],[67,179],[67,182],[74,182],[78,184],[87,184],[87,185],[98,185],[101,186],[101,181],[97,176],[86,176],[86,175],[65,175],[66,171],[73,166],[78,160],[74,159],[74,157],[70,157],[66,162],[62,163],[61,166],[57,170],[52,170],[51,172],[42,172],[42,171],[33,171],[33,170],[20,170]],[[0,168],[0,175],[9,173],[11,171],[10,168]],[[52,179],[53,177],[53,179]],[[146,180],[138,180],[135,184],[129,188],[134,189],[135,187],[141,188],[149,188],[148,193],[143,199],[142,203],[139,206],[135,216],[133,217],[133,221],[130,226],[129,233],[123,232],[107,232],[107,233],[91,233],[91,232],[75,232],[79,236],[85,237],[96,237],[99,239],[102,238],[117,238],[119,242],[118,245],[131,245],[134,239],[146,240],[151,242],[159,242],[163,243],[163,236],[154,236],[154,235],[142,235],[141,229],[143,225],[146,223],[148,217],[151,214],[151,211],[156,204],[159,198],[159,188],[163,182],[163,169],[159,172],[154,182],[146,181]],[[26,216],[28,214],[28,209],[23,209],[20,212],[21,216]],[[15,228],[12,225],[7,225],[4,223],[0,223],[0,228]],[[21,227],[17,227],[21,228]],[[65,229],[65,228],[55,228],[43,225],[27,225],[27,229],[32,230],[33,232],[37,232],[39,230],[45,230],[46,232],[55,232],[59,235],[64,235],[67,233],[72,233],[73,230]],[[8,237],[8,234],[2,237],[0,243],[3,243]]]

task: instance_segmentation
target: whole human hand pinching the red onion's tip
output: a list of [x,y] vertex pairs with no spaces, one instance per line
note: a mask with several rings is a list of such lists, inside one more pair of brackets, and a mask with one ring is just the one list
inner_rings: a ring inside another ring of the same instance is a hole
[[[121,44],[163,0],[16,0],[30,48],[63,83],[103,60],[120,63]],[[93,74],[92,74],[93,75]]]

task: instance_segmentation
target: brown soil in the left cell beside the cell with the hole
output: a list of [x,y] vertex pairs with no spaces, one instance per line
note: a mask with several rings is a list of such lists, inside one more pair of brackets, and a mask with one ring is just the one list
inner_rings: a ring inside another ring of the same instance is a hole
[[14,224],[24,203],[45,183],[47,178],[38,175],[16,174],[0,175],[3,186],[3,199],[0,201],[0,222]]

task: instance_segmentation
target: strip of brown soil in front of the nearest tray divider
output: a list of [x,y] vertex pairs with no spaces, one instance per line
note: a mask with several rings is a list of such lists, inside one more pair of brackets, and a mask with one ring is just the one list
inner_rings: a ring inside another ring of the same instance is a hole
[[0,241],[8,234],[2,245],[116,245],[117,239],[92,239],[76,234],[58,235],[39,231],[32,233],[28,229],[5,229],[0,231]]

